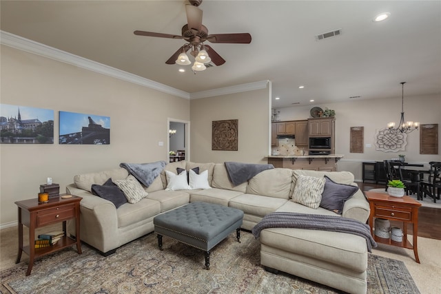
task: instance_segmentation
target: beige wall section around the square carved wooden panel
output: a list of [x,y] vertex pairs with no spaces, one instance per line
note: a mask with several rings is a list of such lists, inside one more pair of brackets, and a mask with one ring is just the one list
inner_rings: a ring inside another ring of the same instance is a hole
[[[192,161],[267,163],[269,89],[192,100]],[[238,151],[212,150],[212,121],[229,119],[238,119]]]

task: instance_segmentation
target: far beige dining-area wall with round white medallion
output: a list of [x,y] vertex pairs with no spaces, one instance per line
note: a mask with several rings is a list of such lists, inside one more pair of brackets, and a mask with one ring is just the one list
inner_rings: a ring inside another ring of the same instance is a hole
[[[344,154],[345,158],[338,162],[338,170],[351,171],[356,179],[362,178],[362,161],[385,160],[398,158],[398,154],[405,154],[407,162],[441,161],[441,95],[404,96],[404,118],[419,121],[421,124],[438,123],[438,155],[420,154],[420,133],[414,131],[407,135],[405,151],[383,152],[376,151],[375,134],[377,129],[387,126],[389,121],[400,121],[401,97],[378,98],[365,101],[349,101],[345,103],[329,103],[310,105],[305,107],[280,108],[280,120],[294,120],[310,118],[309,110],[319,106],[328,107],[336,111],[336,154]],[[365,127],[364,153],[349,153],[350,127]],[[366,147],[371,144],[371,147]]]

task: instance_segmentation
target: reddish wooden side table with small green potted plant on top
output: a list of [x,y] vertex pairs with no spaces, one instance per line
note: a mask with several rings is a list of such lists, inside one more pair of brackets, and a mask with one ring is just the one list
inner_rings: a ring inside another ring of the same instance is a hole
[[[367,199],[371,213],[369,215],[369,225],[371,226],[371,235],[378,243],[389,244],[407,249],[413,249],[415,261],[420,263],[418,258],[418,209],[421,203],[417,200],[403,196],[402,198],[392,197],[385,193],[376,193],[366,191]],[[387,220],[398,220],[403,222],[403,238],[402,242],[396,242],[391,238],[379,238],[373,234],[373,218],[385,218]],[[407,225],[412,224],[413,227],[413,244],[407,240]]]

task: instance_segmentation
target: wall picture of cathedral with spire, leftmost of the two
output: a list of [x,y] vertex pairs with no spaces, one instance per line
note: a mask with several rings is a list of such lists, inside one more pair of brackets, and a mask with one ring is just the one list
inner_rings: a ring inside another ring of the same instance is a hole
[[54,144],[54,111],[0,104],[1,144]]

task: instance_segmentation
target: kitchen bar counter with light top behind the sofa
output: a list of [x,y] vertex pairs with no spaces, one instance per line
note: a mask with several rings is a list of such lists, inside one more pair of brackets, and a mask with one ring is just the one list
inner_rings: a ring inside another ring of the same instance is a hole
[[344,156],[342,154],[329,154],[304,156],[271,155],[266,157],[268,158],[268,163],[274,165],[274,167],[311,169],[314,171],[336,171],[336,163]]

